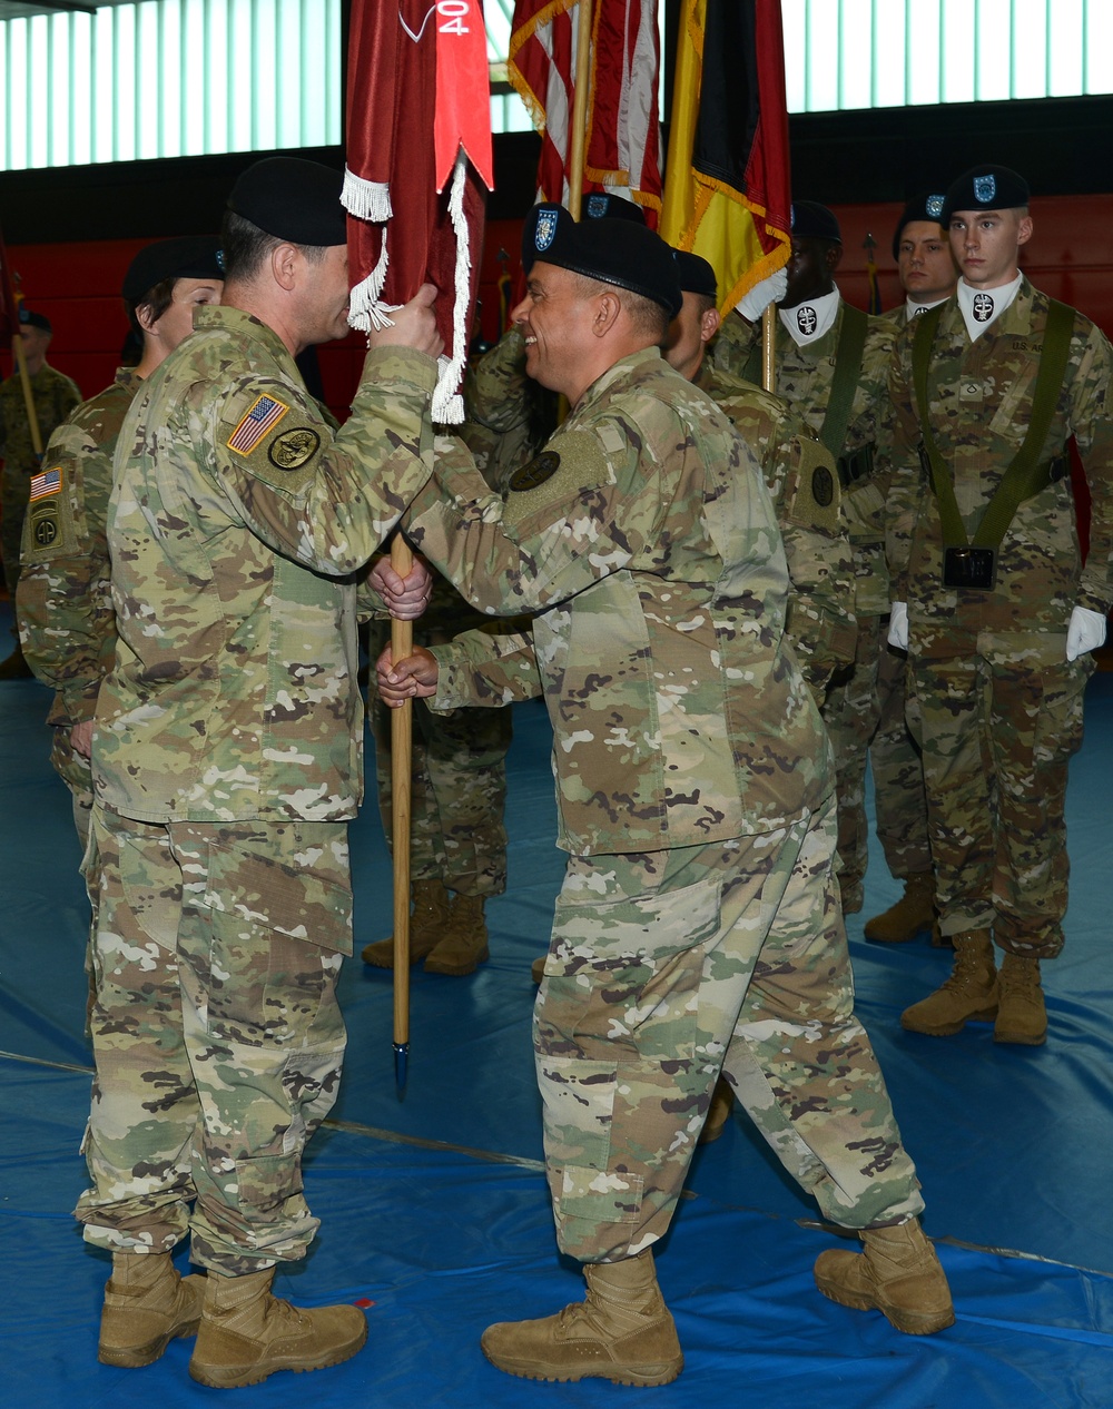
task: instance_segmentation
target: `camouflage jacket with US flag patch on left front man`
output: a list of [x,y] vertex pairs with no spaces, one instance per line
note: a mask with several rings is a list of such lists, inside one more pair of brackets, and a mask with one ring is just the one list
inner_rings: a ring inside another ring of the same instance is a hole
[[276,333],[197,310],[117,447],[103,802],[141,821],[354,816],[354,575],[428,478],[434,375],[417,352],[369,352],[334,434]]

